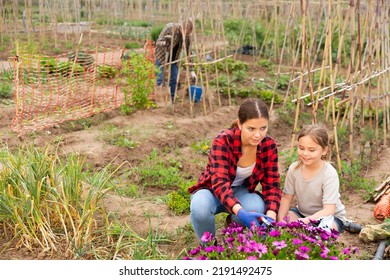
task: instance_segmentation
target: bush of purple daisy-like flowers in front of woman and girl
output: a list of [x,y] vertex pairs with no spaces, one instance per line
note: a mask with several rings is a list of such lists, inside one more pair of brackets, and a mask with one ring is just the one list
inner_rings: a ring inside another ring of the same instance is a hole
[[184,259],[199,260],[347,260],[358,248],[342,248],[338,232],[317,227],[315,222],[277,222],[252,226],[250,230],[231,223],[222,230],[222,242],[206,232],[204,244]]

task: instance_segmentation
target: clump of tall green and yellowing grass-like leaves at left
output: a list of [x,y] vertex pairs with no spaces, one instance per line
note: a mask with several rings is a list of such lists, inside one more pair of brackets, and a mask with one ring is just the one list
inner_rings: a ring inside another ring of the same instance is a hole
[[[96,215],[113,173],[106,169],[87,178],[83,159],[60,159],[50,147],[0,150],[0,225],[32,249],[57,250],[59,240],[84,252],[96,235]],[[115,172],[115,171],[114,171]]]

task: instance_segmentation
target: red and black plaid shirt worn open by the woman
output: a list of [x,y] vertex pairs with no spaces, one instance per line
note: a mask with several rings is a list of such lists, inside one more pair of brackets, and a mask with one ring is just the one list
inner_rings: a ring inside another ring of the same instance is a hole
[[[205,171],[188,191],[193,194],[199,189],[209,189],[232,212],[233,206],[240,203],[231,185],[241,156],[241,131],[237,127],[222,131],[212,143]],[[261,192],[256,190],[259,183]],[[245,185],[249,192],[257,192],[264,199],[266,211],[278,212],[282,191],[278,151],[273,138],[266,136],[257,147],[256,165],[252,175],[245,179]]]

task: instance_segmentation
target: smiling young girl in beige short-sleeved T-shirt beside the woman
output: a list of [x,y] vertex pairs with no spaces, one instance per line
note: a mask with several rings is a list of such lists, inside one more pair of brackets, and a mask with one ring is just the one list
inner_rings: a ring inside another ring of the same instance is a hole
[[[340,201],[339,177],[326,161],[330,155],[328,133],[321,125],[306,125],[298,135],[297,162],[290,165],[278,220],[301,220],[305,224],[333,216],[332,228],[341,232],[346,221],[345,207]],[[296,196],[298,205],[290,209]]]

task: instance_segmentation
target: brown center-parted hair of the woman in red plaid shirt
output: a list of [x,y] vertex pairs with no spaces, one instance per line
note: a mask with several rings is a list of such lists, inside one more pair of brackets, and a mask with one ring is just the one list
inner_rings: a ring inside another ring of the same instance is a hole
[[[264,118],[269,120],[268,107],[267,105],[258,98],[248,98],[241,104],[240,109],[238,109],[238,120],[241,124],[245,123],[247,120]],[[237,121],[235,120],[231,127],[237,126]]]

